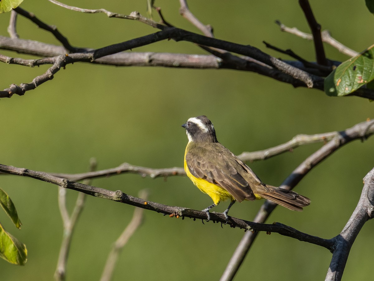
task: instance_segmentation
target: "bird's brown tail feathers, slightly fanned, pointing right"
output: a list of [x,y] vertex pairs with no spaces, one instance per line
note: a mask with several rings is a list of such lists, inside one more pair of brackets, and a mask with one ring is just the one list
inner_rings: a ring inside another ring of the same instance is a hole
[[303,207],[310,204],[308,197],[302,196],[295,191],[264,184],[262,188],[255,191],[256,195],[269,199],[290,210],[302,211]]

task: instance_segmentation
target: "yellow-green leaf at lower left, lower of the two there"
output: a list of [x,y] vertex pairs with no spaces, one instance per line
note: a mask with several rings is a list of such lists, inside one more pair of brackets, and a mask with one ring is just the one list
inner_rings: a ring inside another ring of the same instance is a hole
[[6,232],[0,224],[0,257],[14,265],[25,265],[27,249],[13,235]]

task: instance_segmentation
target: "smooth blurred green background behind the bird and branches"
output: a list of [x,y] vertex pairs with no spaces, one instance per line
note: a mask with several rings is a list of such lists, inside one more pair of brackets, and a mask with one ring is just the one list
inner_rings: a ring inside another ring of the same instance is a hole
[[[146,15],[146,1],[65,1],[85,8],[106,8]],[[267,50],[265,40],[291,48],[315,60],[313,43],[282,33],[274,23],[309,32],[297,1],[188,1],[192,12],[214,27],[215,36]],[[179,2],[157,0],[172,24],[199,32],[179,15]],[[311,1],[323,29],[356,51],[372,45],[374,18],[365,2]],[[99,48],[156,32],[140,22],[110,19],[103,14],[72,12],[48,1],[25,0],[21,7],[53,24],[74,46]],[[0,15],[1,35],[10,13]],[[155,15],[157,18],[157,15]],[[58,45],[53,36],[25,18],[18,19],[23,39]],[[368,36],[370,34],[370,36]],[[346,60],[331,46],[329,58]],[[163,41],[134,51],[205,54],[188,42]],[[31,56],[1,51],[12,57]],[[282,55],[282,58],[287,57]],[[1,88],[30,82],[48,66],[28,68],[0,64]],[[332,98],[317,90],[293,88],[255,73],[233,70],[189,70],[161,67],[109,67],[75,63],[60,70],[25,96],[1,99],[1,163],[28,169],[78,173],[95,157],[98,169],[123,162],[154,168],[183,166],[187,143],[181,124],[207,115],[218,140],[234,153],[266,149],[299,133],[344,130],[373,118],[373,104],[358,97]],[[296,229],[331,238],[346,224],[362,189],[362,178],[374,166],[374,138],[339,149],[312,170],[295,189],[312,199],[303,212],[277,208],[269,223],[279,221]],[[300,147],[250,166],[266,183],[279,185],[321,144]],[[27,245],[28,262],[13,266],[0,259],[1,280],[52,280],[62,237],[57,187],[19,176],[1,176],[0,187],[15,203],[22,230],[0,212],[1,223]],[[186,177],[141,178],[118,175],[95,179],[93,185],[137,196],[147,188],[149,200],[203,209],[211,199]],[[68,190],[72,207],[77,192]],[[259,202],[235,205],[230,214],[252,220]],[[222,204],[215,211],[223,211]],[[89,196],[76,227],[67,265],[67,280],[98,280],[113,241],[132,217],[134,207]],[[164,217],[145,211],[144,223],[123,248],[114,280],[218,280],[244,232],[190,219]],[[372,223],[361,230],[343,280],[372,278]],[[276,233],[260,233],[236,280],[322,280],[328,270],[328,250]]]

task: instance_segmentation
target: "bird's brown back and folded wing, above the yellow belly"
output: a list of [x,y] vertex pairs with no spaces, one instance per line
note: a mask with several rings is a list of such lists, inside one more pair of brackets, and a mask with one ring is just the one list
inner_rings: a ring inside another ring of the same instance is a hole
[[260,179],[229,149],[220,143],[190,143],[186,154],[188,170],[196,178],[205,179],[227,190],[237,201],[254,200],[251,182]]

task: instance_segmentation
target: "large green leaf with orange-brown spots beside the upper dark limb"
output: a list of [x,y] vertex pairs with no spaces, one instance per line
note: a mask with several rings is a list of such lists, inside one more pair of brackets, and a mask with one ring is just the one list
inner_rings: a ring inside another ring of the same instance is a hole
[[346,96],[374,79],[373,47],[344,61],[325,78],[328,96]]

